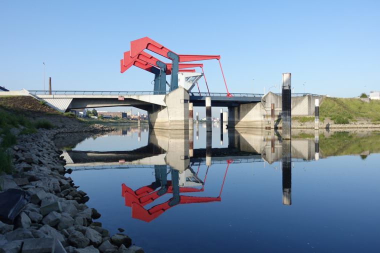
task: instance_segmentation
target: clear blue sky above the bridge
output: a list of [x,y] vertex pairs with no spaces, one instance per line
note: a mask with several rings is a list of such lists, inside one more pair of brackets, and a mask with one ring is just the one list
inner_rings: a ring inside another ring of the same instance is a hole
[[[152,90],[152,75],[119,72],[143,36],[182,54],[220,54],[230,92],[262,93],[292,73],[294,92],[380,90],[380,1],[1,1],[0,85]],[[224,91],[216,60],[211,91]],[[254,79],[254,81],[252,80]],[[47,82],[47,81],[46,81]],[[204,82],[200,83],[204,88]]]

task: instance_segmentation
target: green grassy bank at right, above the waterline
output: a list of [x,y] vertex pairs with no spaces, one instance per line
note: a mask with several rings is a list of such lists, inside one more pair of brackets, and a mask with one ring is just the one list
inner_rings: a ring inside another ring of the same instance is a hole
[[337,124],[346,124],[357,120],[368,120],[380,124],[380,100],[371,100],[369,103],[357,98],[323,98],[319,115],[330,118]]

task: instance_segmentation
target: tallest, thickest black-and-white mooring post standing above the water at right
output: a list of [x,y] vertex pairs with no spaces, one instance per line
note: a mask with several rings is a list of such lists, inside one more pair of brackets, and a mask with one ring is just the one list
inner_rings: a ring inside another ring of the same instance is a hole
[[291,74],[282,73],[282,138],[291,138]]

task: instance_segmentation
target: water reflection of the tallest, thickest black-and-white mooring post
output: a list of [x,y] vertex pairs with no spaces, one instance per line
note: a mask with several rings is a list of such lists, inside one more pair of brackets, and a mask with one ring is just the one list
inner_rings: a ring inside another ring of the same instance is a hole
[[282,140],[282,204],[291,204],[291,140]]

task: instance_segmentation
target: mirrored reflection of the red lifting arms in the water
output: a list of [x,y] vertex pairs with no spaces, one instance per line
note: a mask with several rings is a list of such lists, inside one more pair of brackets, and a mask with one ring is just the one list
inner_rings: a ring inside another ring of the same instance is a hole
[[[163,194],[159,194],[159,190],[156,190],[158,187],[154,185],[154,183],[150,185],[143,186],[141,188],[138,188],[136,190],[132,190],[128,186],[126,186],[124,183],[121,184],[121,195],[125,198],[125,205],[130,206],[132,208],[132,217],[137,218],[146,222],[150,222],[151,220],[155,219],[159,215],[161,215],[164,211],[171,208],[174,205],[177,204],[188,204],[188,203],[204,203],[204,202],[213,202],[213,201],[220,201],[220,195],[223,189],[225,176],[227,174],[229,163],[231,163],[232,160],[227,160],[227,167],[225,168],[223,181],[221,183],[219,195],[216,197],[201,197],[201,196],[184,196],[184,195],[178,195],[179,201],[173,203],[173,199],[175,198],[175,189],[173,190],[173,187],[175,185],[172,185],[172,181],[167,181],[166,186],[167,190],[163,193],[173,193],[173,197],[169,200],[154,205],[149,209],[145,209],[143,206],[153,202],[155,199],[159,198]],[[199,169],[199,168],[198,168]],[[208,168],[207,168],[208,171]],[[204,180],[207,176],[207,171],[204,176]],[[178,186],[177,186],[178,187]],[[204,184],[203,186],[199,188],[194,187],[179,187],[177,191],[179,192],[200,192],[204,190]]]

